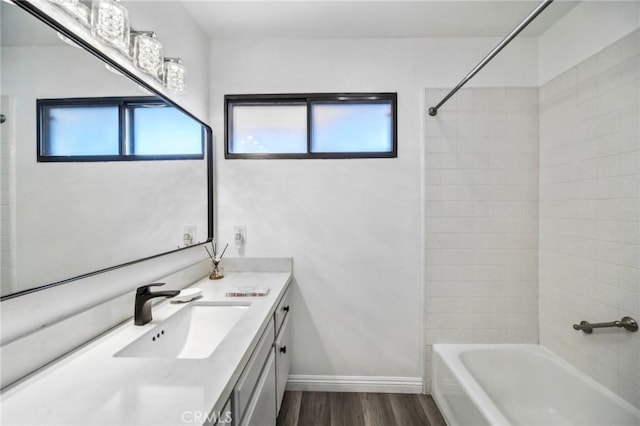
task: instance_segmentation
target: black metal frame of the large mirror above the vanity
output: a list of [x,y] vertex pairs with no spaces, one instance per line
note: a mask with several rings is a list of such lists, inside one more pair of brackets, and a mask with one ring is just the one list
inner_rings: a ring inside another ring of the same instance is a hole
[[30,293],[34,293],[37,291],[41,291],[41,290],[46,290],[49,289],[51,287],[55,287],[58,285],[62,285],[62,284],[67,284],[73,281],[78,281],[93,275],[98,275],[98,274],[102,274],[105,272],[109,272],[109,271],[113,271],[115,269],[119,269],[119,268],[123,268],[126,266],[130,266],[130,265],[134,265],[136,263],[141,263],[150,259],[154,259],[157,257],[161,257],[161,256],[166,256],[169,255],[171,253],[176,253],[179,251],[183,251],[185,249],[188,248],[192,248],[192,247],[196,247],[199,245],[204,245],[207,243],[210,243],[211,241],[213,241],[213,132],[211,129],[211,126],[209,126],[208,124],[204,123],[202,120],[198,119],[197,117],[195,117],[193,114],[191,114],[189,111],[185,110],[182,106],[178,105],[175,101],[173,101],[171,98],[167,97],[166,94],[163,93],[159,93],[157,90],[155,90],[153,87],[150,87],[148,84],[145,83],[145,81],[143,79],[141,79],[140,77],[138,77],[137,75],[135,75],[134,73],[130,72],[129,70],[121,67],[119,64],[117,64],[115,61],[113,61],[111,58],[109,58],[108,55],[104,54],[103,52],[101,52],[99,49],[93,47],[91,44],[87,43],[85,40],[83,40],[81,37],[78,37],[74,32],[72,32],[71,30],[69,30],[68,28],[66,28],[65,26],[61,25],[59,22],[57,22],[55,19],[53,19],[52,17],[50,17],[49,15],[43,13],[42,11],[40,11],[37,7],[35,7],[33,4],[27,2],[27,1],[22,1],[22,0],[14,0],[13,3],[21,8],[22,10],[24,10],[26,13],[29,13],[31,15],[33,15],[35,18],[37,18],[38,20],[40,20],[41,22],[43,22],[44,24],[48,25],[49,27],[52,28],[52,30],[54,31],[58,31],[60,33],[62,33],[64,36],[68,37],[69,39],[71,39],[74,43],[76,43],[78,46],[80,46],[82,49],[84,49],[85,51],[87,51],[88,53],[91,53],[92,55],[94,55],[95,57],[97,57],[98,59],[100,59],[101,61],[103,61],[104,63],[110,65],[111,67],[117,69],[119,72],[121,72],[124,76],[128,77],[129,79],[131,79],[133,82],[139,84],[140,86],[144,87],[145,89],[149,90],[151,93],[153,93],[154,95],[158,96],[159,98],[163,99],[165,102],[167,102],[168,104],[174,106],[175,108],[177,108],[178,110],[182,111],[184,114],[186,114],[187,116],[191,117],[192,119],[196,120],[198,123],[200,123],[203,128],[204,128],[204,133],[205,133],[205,150],[206,150],[206,155],[205,155],[205,161],[207,162],[207,206],[208,206],[208,211],[207,211],[207,240],[202,242],[202,243],[198,243],[198,244],[194,244],[193,246],[189,246],[189,247],[183,247],[183,248],[178,248],[176,250],[170,250],[167,252],[163,252],[163,253],[158,253],[152,256],[147,256],[145,258],[141,258],[141,259],[137,259],[131,262],[126,262],[126,263],[122,263],[119,265],[115,265],[115,266],[111,266],[108,268],[104,268],[104,269],[100,269],[97,271],[93,271],[93,272],[88,272],[85,274],[81,274],[75,277],[71,277],[71,278],[67,278],[61,281],[56,281],[50,284],[44,284],[38,287],[33,287],[30,289],[26,289],[26,290],[22,290],[16,293],[12,293],[12,294],[7,294],[5,296],[0,297],[0,301],[4,301],[4,300],[8,300],[8,299],[13,299],[15,297],[20,297],[26,294],[30,294]]

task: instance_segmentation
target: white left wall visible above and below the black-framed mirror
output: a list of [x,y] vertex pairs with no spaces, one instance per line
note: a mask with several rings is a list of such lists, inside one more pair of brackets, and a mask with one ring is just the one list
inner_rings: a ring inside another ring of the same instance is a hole
[[[167,41],[171,40],[175,56],[182,52],[185,58],[190,55],[185,63],[193,67],[195,78],[189,79],[189,95],[181,102],[197,116],[206,118],[209,104],[206,38],[195,30],[180,4],[154,2],[130,6],[132,22],[148,25],[145,29],[156,30]],[[144,24],[137,20],[142,16],[148,19]],[[167,287],[182,288],[204,276],[207,269],[207,262],[201,263],[204,258],[202,248],[195,247],[3,301],[1,385],[4,387],[132,317],[132,290],[137,286],[162,280]]]

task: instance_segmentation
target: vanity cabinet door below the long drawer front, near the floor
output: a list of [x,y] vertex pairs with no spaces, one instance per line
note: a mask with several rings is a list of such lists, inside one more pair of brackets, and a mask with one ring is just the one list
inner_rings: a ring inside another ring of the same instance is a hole
[[242,420],[242,426],[275,426],[275,424],[276,364],[272,349]]

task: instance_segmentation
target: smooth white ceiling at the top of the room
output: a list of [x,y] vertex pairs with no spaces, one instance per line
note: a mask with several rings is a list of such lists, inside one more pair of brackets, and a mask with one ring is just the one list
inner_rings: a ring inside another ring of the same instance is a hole
[[[504,37],[541,2],[183,0],[211,39]],[[556,0],[523,36],[538,36],[578,2]]]

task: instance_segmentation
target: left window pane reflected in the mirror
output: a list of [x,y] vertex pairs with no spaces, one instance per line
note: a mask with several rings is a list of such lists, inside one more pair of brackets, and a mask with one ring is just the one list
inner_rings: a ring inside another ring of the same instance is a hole
[[52,106],[43,151],[52,156],[118,155],[118,106]]

